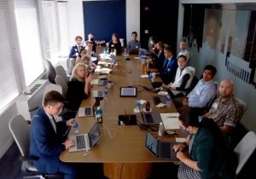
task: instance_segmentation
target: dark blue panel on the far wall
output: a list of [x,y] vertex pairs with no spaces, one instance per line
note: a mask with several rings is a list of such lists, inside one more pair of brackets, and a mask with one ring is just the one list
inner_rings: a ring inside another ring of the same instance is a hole
[[96,40],[111,40],[113,32],[126,37],[125,0],[86,1],[84,6],[84,34],[95,34]]

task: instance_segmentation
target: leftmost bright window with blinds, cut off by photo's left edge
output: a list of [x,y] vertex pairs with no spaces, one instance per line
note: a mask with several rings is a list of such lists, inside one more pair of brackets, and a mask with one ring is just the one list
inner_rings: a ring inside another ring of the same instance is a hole
[[[0,110],[19,95],[17,66],[15,64],[14,15],[10,11],[9,1],[0,3]],[[8,80],[7,80],[8,79]]]

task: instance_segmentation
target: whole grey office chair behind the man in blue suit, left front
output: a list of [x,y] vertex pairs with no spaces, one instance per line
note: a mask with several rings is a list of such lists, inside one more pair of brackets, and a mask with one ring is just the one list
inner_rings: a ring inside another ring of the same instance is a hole
[[9,121],[9,130],[15,139],[15,143],[20,150],[20,161],[22,162],[21,170],[24,173],[32,172],[34,176],[24,176],[23,178],[63,178],[61,174],[45,174],[40,172],[36,167],[32,166],[32,161],[36,159],[29,156],[30,136],[29,136],[29,124],[26,119],[20,114],[15,115]]

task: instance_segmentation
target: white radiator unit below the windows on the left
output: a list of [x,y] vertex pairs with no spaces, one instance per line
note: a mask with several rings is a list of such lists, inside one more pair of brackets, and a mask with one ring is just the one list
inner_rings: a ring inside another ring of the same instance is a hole
[[29,95],[20,95],[16,101],[18,113],[26,120],[32,119],[32,116],[37,112],[38,107],[42,107],[44,96],[44,88],[49,84],[47,79],[39,79],[29,87],[31,92]]

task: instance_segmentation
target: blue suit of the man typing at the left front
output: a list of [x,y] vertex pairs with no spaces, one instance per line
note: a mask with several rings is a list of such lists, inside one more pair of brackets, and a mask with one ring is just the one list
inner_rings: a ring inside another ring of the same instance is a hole
[[[65,122],[65,121],[64,121]],[[56,173],[61,163],[59,159],[60,153],[65,150],[65,146],[61,141],[61,128],[64,122],[56,123],[56,133],[50,123],[49,117],[41,108],[32,118],[30,127],[30,156],[37,157],[37,161],[33,161],[39,171],[47,173]]]

